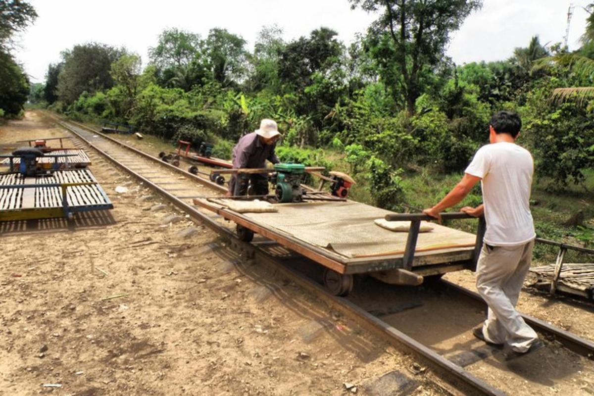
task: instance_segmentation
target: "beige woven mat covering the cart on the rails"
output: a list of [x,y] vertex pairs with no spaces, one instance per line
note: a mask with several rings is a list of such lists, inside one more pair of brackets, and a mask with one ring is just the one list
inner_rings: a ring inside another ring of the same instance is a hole
[[[405,249],[407,232],[393,232],[374,223],[376,218],[392,213],[387,210],[352,201],[274,206],[279,209],[277,213],[244,213],[244,216],[349,258],[402,254]],[[473,246],[475,239],[473,234],[434,224],[431,232],[419,233],[416,249],[451,251]]]

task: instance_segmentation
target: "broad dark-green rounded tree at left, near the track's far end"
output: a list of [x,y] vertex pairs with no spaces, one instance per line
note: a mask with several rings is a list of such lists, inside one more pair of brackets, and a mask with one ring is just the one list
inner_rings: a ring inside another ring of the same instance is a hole
[[99,43],[75,45],[62,52],[64,66],[58,75],[58,97],[66,104],[74,103],[81,93],[93,94],[113,86],[111,65],[125,51]]

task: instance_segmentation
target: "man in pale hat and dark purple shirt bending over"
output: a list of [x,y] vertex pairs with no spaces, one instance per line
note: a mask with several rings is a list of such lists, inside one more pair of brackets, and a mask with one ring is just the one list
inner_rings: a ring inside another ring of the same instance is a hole
[[[276,147],[279,137],[280,132],[276,122],[271,119],[263,119],[260,122],[260,129],[244,135],[233,147],[233,168],[263,168],[266,167],[266,160],[273,164],[279,163],[279,157],[274,154],[274,147]],[[252,186],[252,195],[268,194],[266,175],[237,174],[231,176],[229,180],[227,195],[246,195],[249,184]]]

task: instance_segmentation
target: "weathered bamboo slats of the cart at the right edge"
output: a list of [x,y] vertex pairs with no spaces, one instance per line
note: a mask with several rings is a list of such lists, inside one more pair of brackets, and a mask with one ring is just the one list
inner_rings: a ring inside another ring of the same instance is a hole
[[[530,272],[536,275],[537,282],[535,286],[548,290],[555,275],[555,265],[530,268]],[[557,281],[557,290],[592,299],[594,264],[564,263]]]

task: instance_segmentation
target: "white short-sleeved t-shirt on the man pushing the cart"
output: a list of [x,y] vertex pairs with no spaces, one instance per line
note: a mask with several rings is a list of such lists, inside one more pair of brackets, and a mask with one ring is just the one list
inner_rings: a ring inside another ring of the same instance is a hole
[[522,245],[536,237],[528,203],[533,170],[529,151],[514,143],[488,144],[476,151],[465,172],[482,179],[488,245]]

